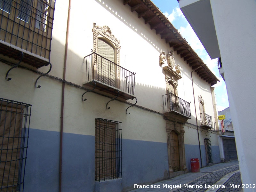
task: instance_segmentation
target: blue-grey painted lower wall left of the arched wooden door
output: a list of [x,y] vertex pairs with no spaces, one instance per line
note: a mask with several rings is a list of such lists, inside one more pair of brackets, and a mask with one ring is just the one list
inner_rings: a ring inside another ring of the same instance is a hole
[[[59,189],[60,132],[30,129],[25,170],[26,192]],[[63,133],[62,192],[95,190],[95,137]],[[164,179],[167,144],[122,140],[122,188]]]

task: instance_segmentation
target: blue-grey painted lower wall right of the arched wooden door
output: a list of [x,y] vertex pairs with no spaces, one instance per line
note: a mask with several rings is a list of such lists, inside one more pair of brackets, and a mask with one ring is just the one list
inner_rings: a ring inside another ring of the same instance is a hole
[[[201,155],[202,155],[202,164],[203,167],[206,166],[206,152],[205,152],[205,146],[201,145]],[[185,156],[186,156],[186,166],[188,171],[191,171],[191,166],[190,166],[190,159],[192,158],[198,158],[199,162],[200,160],[200,151],[199,151],[199,146],[198,145],[186,145],[185,144]],[[220,149],[219,146],[212,146],[212,161],[213,163],[220,163]],[[201,162],[200,162],[200,167],[201,167]]]

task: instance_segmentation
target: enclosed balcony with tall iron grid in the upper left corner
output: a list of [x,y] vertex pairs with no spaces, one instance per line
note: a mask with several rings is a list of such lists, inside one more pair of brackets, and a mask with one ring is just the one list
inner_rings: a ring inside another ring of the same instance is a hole
[[55,0],[1,0],[0,58],[20,60],[33,67],[50,61]]

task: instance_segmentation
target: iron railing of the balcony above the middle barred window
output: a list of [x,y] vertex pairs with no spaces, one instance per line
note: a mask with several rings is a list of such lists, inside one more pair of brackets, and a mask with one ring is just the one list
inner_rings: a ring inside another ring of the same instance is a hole
[[84,57],[85,82],[96,81],[135,95],[135,73],[93,52]]

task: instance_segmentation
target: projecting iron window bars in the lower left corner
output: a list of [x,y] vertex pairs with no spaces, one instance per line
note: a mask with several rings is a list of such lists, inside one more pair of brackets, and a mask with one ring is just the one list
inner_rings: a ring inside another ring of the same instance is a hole
[[24,191],[31,106],[0,98],[0,191]]

